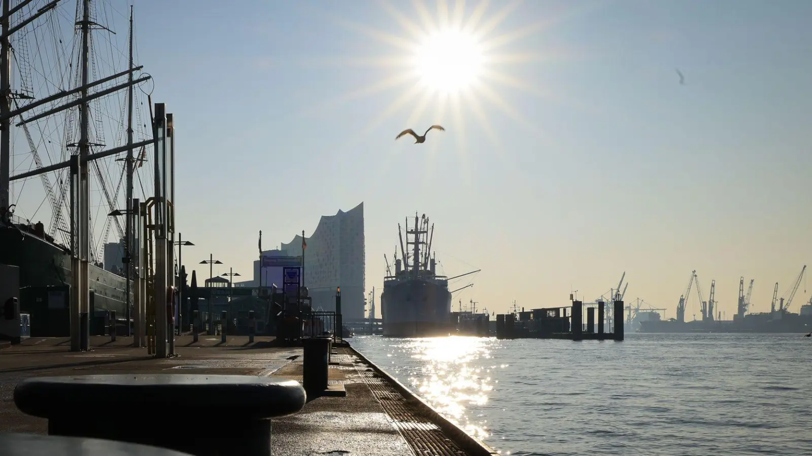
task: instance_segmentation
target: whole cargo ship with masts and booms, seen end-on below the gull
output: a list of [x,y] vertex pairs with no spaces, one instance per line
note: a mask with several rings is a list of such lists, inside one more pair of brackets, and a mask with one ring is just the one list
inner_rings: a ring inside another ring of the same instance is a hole
[[408,227],[408,217],[405,223],[409,250],[404,248],[403,232],[398,224],[401,255],[398,258],[395,252],[394,271],[387,259],[387,276],[383,279],[383,335],[391,338],[448,336],[455,330],[451,323],[451,293],[456,291],[448,290],[448,281],[479,270],[455,277],[438,275],[436,254],[430,255],[434,225],[429,228],[425,214],[420,218],[415,214],[412,229]]

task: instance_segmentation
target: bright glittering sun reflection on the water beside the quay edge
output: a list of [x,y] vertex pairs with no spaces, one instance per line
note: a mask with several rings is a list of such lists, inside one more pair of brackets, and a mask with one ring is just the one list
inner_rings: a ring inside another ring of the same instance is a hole
[[494,388],[491,368],[469,367],[477,359],[490,359],[487,339],[452,336],[412,339],[399,348],[421,360],[421,374],[408,381],[435,410],[479,439],[490,435],[486,420],[473,423],[468,406],[483,406]]

